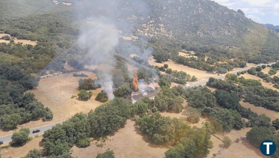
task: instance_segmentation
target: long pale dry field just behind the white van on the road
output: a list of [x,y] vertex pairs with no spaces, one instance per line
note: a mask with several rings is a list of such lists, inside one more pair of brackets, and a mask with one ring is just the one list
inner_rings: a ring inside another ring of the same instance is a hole
[[[202,70],[190,68],[188,66],[175,63],[174,61],[171,61],[171,60],[166,61],[165,63],[157,63],[156,60],[153,59],[153,57],[150,57],[150,59],[148,60],[148,63],[150,65],[154,65],[154,66],[164,66],[164,64],[166,63],[169,65],[169,68],[171,68],[172,70],[184,71],[191,76],[196,76],[198,78],[198,81],[207,80],[210,77],[214,77],[214,78],[218,77],[218,75],[216,75],[216,74],[211,74],[211,73],[207,73]],[[164,73],[162,73],[162,74],[164,74]]]

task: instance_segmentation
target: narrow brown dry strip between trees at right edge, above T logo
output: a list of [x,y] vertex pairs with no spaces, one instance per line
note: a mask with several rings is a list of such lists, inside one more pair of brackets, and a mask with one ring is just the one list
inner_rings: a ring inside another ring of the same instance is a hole
[[250,103],[244,103],[243,101],[239,102],[241,106],[245,108],[250,108],[253,112],[258,113],[258,115],[265,114],[271,118],[271,120],[276,120],[279,118],[279,113],[273,110],[265,109],[264,107],[257,107]]

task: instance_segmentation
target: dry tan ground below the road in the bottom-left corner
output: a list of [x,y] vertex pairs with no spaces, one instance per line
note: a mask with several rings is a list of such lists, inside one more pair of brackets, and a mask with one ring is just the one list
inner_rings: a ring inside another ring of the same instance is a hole
[[[42,150],[43,143],[41,142],[41,140],[42,140],[42,134],[37,138],[33,138],[22,147],[9,147],[6,149],[1,149],[2,158],[8,158],[8,157],[20,158],[25,156],[30,150],[33,149]],[[3,145],[8,145],[8,144],[3,144]]]

